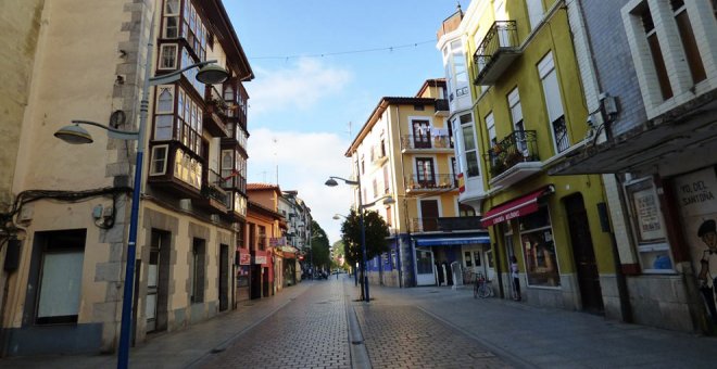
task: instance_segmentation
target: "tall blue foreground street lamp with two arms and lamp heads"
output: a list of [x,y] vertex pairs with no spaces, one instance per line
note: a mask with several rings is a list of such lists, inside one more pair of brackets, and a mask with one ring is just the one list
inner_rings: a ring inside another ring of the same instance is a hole
[[147,112],[149,106],[149,89],[151,86],[172,84],[179,78],[181,74],[196,67],[200,67],[197,73],[197,80],[205,85],[222,84],[229,78],[229,73],[218,65],[215,65],[216,60],[196,63],[185,66],[184,68],[161,75],[150,77],[152,69],[152,31],[150,31],[150,41],[147,44],[147,63],[144,65],[144,85],[142,89],[142,100],[140,102],[139,115],[139,129],[137,131],[122,131],[111,128],[99,123],[89,120],[72,120],[74,125],[65,126],[58,130],[54,136],[65,142],[73,144],[91,143],[92,137],[79,125],[90,125],[105,129],[111,138],[122,140],[137,140],[137,157],[135,163],[135,186],[131,196],[131,215],[129,218],[129,238],[127,241],[127,266],[125,269],[125,285],[124,295],[122,300],[122,322],[120,328],[120,347],[117,349],[117,368],[127,368],[129,361],[129,339],[130,339],[130,322],[131,322],[131,301],[133,301],[133,285],[135,279],[135,258],[137,253],[137,225],[139,217],[139,199],[141,190],[142,177],[142,162],[144,155],[144,130],[147,126]]

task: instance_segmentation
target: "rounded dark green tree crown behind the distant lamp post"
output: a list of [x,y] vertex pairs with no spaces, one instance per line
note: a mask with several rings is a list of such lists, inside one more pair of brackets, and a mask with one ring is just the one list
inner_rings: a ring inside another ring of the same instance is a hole
[[[378,212],[364,213],[364,228],[366,232],[367,259],[372,259],[389,251],[388,242],[386,241],[386,238],[389,236],[389,228]],[[356,262],[361,262],[361,216],[353,209],[341,225],[341,241],[345,245],[344,252],[349,265],[355,265]]]

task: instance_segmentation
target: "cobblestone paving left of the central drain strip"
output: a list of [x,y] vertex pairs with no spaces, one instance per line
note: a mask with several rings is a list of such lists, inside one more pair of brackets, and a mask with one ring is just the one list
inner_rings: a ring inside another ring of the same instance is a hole
[[202,368],[351,368],[343,283],[315,283]]

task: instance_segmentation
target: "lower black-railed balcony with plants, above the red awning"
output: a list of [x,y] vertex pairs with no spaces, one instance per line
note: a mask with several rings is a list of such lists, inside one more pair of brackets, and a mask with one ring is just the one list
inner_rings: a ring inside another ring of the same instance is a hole
[[490,166],[491,186],[507,187],[542,168],[534,130],[514,131],[485,155]]

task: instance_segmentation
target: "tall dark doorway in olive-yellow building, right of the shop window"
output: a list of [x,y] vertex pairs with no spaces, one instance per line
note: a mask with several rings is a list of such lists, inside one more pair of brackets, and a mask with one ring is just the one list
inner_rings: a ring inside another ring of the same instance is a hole
[[578,272],[578,285],[582,300],[582,309],[590,313],[602,314],[603,296],[600,288],[598,263],[592,247],[592,236],[588,224],[588,213],[581,194],[565,199],[573,257]]

